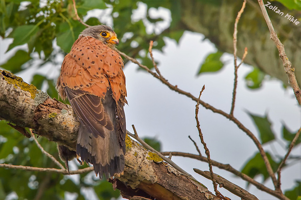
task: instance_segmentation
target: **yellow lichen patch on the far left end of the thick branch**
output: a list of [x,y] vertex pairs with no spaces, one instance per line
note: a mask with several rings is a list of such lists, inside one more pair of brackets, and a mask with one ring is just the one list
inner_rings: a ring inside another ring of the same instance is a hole
[[35,94],[38,92],[34,85],[29,85],[25,83],[21,77],[17,77],[16,75],[4,70],[4,72],[9,76],[3,76],[8,84],[14,85],[15,88],[17,86],[21,88],[23,91],[28,91],[31,94],[31,98],[34,99]]

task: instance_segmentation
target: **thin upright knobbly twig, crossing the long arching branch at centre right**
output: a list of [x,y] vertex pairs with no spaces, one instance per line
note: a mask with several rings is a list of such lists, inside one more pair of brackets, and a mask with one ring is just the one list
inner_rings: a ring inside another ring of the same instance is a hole
[[[201,89],[201,92],[200,92],[200,95],[199,95],[199,100],[201,98],[201,93],[205,90],[205,85],[203,85],[202,89]],[[214,191],[215,191],[215,194],[217,195],[217,197],[222,197],[223,199],[224,196],[222,196],[220,194],[220,192],[217,190],[217,183],[216,183],[216,180],[214,178],[214,173],[213,173],[213,169],[212,169],[212,161],[210,159],[210,152],[209,152],[209,149],[207,148],[207,144],[205,143],[204,141],[204,138],[203,138],[203,134],[201,132],[201,127],[200,127],[200,121],[199,121],[199,117],[198,117],[198,114],[199,114],[199,106],[200,106],[200,101],[197,102],[197,105],[196,105],[196,121],[197,121],[197,128],[198,128],[198,131],[199,131],[199,137],[201,139],[201,143],[205,149],[205,154],[207,155],[207,159],[208,159],[208,164],[209,164],[209,171],[210,171],[210,176],[211,176],[211,180],[212,180],[212,184],[213,184],[213,188],[214,188]]]

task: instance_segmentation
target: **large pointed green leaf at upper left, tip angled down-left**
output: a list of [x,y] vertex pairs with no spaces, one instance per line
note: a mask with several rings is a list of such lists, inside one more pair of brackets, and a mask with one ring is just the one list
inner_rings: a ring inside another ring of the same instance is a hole
[[38,31],[38,27],[36,25],[23,25],[17,27],[12,33],[12,37],[14,38],[14,41],[12,44],[10,44],[7,51],[9,51],[15,46],[24,45],[31,39],[31,37],[34,34],[37,33],[37,31]]

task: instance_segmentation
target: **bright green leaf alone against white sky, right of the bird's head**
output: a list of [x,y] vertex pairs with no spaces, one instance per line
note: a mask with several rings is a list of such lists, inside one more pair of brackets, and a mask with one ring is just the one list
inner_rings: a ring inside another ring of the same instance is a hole
[[217,72],[220,70],[224,66],[224,64],[220,61],[220,57],[222,55],[223,53],[220,51],[209,54],[205,59],[205,62],[201,64],[198,75],[203,72]]

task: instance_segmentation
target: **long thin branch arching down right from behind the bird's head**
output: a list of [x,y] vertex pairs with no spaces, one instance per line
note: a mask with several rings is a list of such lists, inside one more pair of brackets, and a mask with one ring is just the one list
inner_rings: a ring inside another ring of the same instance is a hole
[[[238,128],[240,128],[243,132],[245,132],[245,133],[253,140],[253,142],[255,143],[255,145],[256,145],[256,147],[257,147],[257,149],[259,150],[259,153],[260,153],[261,157],[262,157],[263,160],[264,160],[264,163],[265,163],[265,165],[266,165],[266,168],[267,168],[267,170],[268,170],[269,175],[272,177],[272,179],[275,179],[275,180],[276,180],[275,175],[274,175],[274,173],[273,173],[273,169],[272,169],[272,167],[271,167],[271,165],[270,165],[270,163],[269,163],[269,161],[268,161],[268,156],[267,156],[266,152],[264,151],[264,149],[262,148],[262,145],[261,145],[260,141],[254,136],[254,134],[253,134],[247,127],[245,127],[245,126],[244,126],[239,120],[237,120],[233,115],[230,115],[230,114],[228,114],[228,113],[226,113],[226,112],[224,112],[224,111],[222,111],[222,110],[220,110],[220,109],[217,109],[217,108],[211,106],[211,105],[208,104],[208,103],[205,103],[205,102],[202,101],[202,100],[199,100],[197,97],[195,97],[194,95],[192,95],[190,92],[185,92],[184,90],[181,90],[180,88],[178,88],[178,86],[175,86],[175,85],[170,84],[170,83],[167,81],[167,79],[165,79],[165,78],[162,77],[162,76],[160,77],[160,76],[159,76],[157,73],[155,73],[155,72],[152,72],[147,66],[141,64],[141,63],[138,62],[136,59],[134,59],[134,58],[132,58],[132,57],[126,55],[125,53],[123,53],[123,52],[121,52],[121,51],[119,51],[119,50],[117,50],[117,52],[118,52],[120,55],[124,56],[124,57],[125,57],[126,59],[128,59],[129,61],[131,61],[131,62],[137,64],[139,67],[145,69],[145,70],[146,70],[148,73],[150,73],[153,77],[159,79],[159,80],[160,80],[164,85],[166,85],[170,90],[175,91],[175,92],[178,92],[178,93],[180,93],[180,94],[183,94],[184,96],[187,96],[188,98],[192,99],[192,100],[195,101],[195,102],[200,102],[200,104],[201,104],[204,108],[209,109],[209,110],[211,110],[211,111],[213,111],[213,112],[215,112],[215,113],[218,113],[218,114],[224,116],[225,118],[229,119],[230,121],[234,122],[234,123],[238,126]],[[274,178],[273,178],[273,177],[274,177]]]

